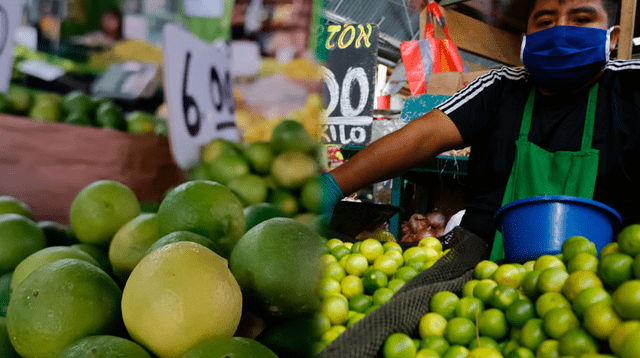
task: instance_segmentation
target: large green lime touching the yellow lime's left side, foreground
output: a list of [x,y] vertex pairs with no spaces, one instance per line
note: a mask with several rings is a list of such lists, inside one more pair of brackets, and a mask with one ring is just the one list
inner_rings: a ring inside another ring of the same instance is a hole
[[81,260],[40,266],[12,293],[7,330],[27,358],[55,358],[80,338],[122,328],[122,291],[109,275]]

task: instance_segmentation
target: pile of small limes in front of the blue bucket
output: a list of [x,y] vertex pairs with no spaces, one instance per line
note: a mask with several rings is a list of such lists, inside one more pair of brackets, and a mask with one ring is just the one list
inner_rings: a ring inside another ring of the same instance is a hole
[[582,236],[524,264],[481,261],[461,292],[433,295],[385,358],[640,357],[640,225],[598,253]]

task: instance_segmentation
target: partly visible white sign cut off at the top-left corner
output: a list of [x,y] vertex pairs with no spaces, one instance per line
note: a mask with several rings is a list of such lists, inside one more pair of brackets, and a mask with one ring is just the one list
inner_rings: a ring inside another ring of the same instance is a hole
[[11,81],[11,67],[15,31],[22,19],[24,1],[0,0],[0,92],[7,92]]

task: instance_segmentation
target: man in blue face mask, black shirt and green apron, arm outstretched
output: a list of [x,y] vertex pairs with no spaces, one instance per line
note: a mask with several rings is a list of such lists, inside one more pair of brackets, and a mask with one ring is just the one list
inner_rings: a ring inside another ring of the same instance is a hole
[[471,146],[460,226],[503,257],[494,214],[537,195],[592,198],[640,222],[640,61],[609,60],[615,0],[531,0],[521,58],[323,174],[328,208],[358,189]]

